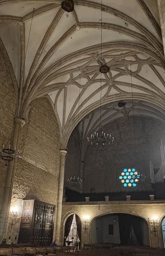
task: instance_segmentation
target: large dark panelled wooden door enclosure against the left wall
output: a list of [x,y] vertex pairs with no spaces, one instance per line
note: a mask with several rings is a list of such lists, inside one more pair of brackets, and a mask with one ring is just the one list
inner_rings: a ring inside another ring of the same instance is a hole
[[[50,245],[54,211],[54,205],[35,200],[24,200],[18,242],[38,246]],[[27,216],[30,217],[27,218]]]

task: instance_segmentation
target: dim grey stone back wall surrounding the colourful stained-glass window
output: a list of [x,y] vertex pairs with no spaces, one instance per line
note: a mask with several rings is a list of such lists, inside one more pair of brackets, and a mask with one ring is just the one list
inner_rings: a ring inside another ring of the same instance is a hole
[[[134,137],[135,130],[135,137]],[[87,147],[84,168],[84,192],[150,190],[149,162],[160,167],[160,140],[165,138],[164,124],[152,118],[120,118],[104,127],[105,132],[114,134],[113,147]],[[146,181],[134,188],[125,188],[119,181],[123,168],[136,168],[146,175]]]

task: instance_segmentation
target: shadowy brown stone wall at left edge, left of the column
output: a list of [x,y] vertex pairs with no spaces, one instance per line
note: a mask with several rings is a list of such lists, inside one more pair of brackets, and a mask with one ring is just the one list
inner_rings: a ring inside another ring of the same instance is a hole
[[[12,125],[16,108],[16,92],[2,48],[0,48],[0,151],[3,144],[11,138]],[[3,191],[7,174],[7,166],[0,159],[0,210],[2,207]]]

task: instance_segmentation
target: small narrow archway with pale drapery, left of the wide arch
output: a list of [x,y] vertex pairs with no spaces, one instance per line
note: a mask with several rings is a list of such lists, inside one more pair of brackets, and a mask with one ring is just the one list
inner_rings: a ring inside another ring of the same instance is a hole
[[81,220],[76,214],[70,215],[65,222],[64,245],[80,248]]

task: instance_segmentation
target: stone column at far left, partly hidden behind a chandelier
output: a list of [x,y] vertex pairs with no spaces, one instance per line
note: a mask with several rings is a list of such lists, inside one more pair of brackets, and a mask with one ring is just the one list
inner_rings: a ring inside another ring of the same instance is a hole
[[[18,146],[19,146],[20,129],[21,127],[23,127],[24,124],[25,122],[23,119],[20,119],[20,118],[14,119],[12,141],[13,141],[13,146],[16,147],[16,151],[18,150]],[[7,234],[8,217],[9,217],[9,211],[10,211],[10,203],[11,203],[11,197],[12,197],[16,162],[17,162],[17,158],[15,158],[15,160],[13,161],[8,162],[6,182],[4,187],[4,197],[3,197],[3,203],[2,203],[2,210],[0,214],[0,242],[3,240],[3,238],[6,238],[6,234]]]

